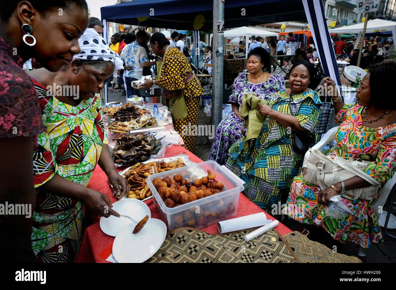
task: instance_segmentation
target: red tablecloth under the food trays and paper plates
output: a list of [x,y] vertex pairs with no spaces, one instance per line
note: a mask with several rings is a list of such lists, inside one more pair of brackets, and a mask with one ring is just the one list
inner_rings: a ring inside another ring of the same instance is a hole
[[[172,147],[166,149],[165,157],[171,157],[179,154],[186,154],[190,157],[192,162],[202,162],[200,158],[192,154],[190,151],[186,150],[184,147],[179,145],[173,145]],[[123,169],[121,169],[123,170]],[[91,177],[91,181],[88,185],[89,188],[98,190],[106,194],[112,202],[117,201],[116,198],[113,197],[113,191],[107,181],[107,177],[103,170],[96,166],[95,171]],[[152,199],[145,201],[151,211],[152,218],[159,218],[159,215],[154,208],[154,204]],[[245,215],[251,215],[253,213],[261,213],[263,210],[255,205],[253,202],[249,201],[244,194],[240,194],[239,203],[238,203],[238,213],[236,217],[243,217]],[[268,213],[264,212],[267,215],[267,218],[273,219]],[[105,260],[112,253],[112,243],[114,241],[114,237],[104,234],[99,227],[99,217],[93,215],[86,215],[88,220],[90,220],[93,224],[86,228],[84,233],[84,238],[82,240],[82,244],[80,247],[80,251],[78,252],[76,262],[78,263],[107,263]],[[279,223],[279,226],[276,229],[280,232],[281,235],[285,235],[291,230]],[[203,231],[209,234],[218,234],[217,225],[214,224],[212,226],[208,226],[202,229]]]

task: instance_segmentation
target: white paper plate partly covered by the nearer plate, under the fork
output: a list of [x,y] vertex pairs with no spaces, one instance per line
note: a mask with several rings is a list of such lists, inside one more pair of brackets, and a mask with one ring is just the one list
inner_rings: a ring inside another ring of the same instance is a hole
[[[140,221],[146,215],[151,217],[150,209],[147,204],[143,201],[137,200],[135,198],[126,198],[118,200],[113,203],[113,210],[115,210],[120,215],[128,215],[136,221]],[[129,226],[130,224],[136,225],[132,220],[125,217],[114,217],[111,215],[108,218],[101,217],[99,221],[99,226],[107,235],[112,235],[115,237],[123,228]]]

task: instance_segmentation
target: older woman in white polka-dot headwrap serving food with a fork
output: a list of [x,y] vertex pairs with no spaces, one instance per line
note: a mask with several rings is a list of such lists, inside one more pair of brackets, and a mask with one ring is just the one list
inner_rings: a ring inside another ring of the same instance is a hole
[[33,168],[36,208],[32,248],[39,262],[73,262],[82,240],[82,204],[91,213],[120,215],[103,193],[87,188],[95,166],[105,171],[117,197],[128,191],[110,157],[99,91],[122,67],[119,56],[88,28],[81,52],[60,72],[30,72],[47,131],[38,135]]

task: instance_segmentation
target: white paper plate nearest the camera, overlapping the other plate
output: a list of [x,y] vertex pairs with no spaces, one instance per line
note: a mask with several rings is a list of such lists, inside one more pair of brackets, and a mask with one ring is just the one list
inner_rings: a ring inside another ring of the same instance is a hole
[[149,218],[137,234],[135,224],[130,224],[118,233],[113,243],[113,256],[118,263],[142,263],[158,249],[166,237],[166,225],[162,220]]

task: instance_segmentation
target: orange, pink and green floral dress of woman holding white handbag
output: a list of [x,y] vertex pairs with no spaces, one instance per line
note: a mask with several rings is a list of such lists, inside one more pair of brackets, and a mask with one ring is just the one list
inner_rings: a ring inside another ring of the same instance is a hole
[[[381,183],[392,178],[396,169],[396,123],[379,128],[363,126],[361,113],[364,107],[347,105],[339,111],[335,122],[340,124],[335,133],[335,145],[328,154],[347,160],[361,158],[372,161],[364,169],[368,175]],[[316,224],[324,228],[334,239],[352,241],[362,248],[383,241],[379,221],[371,207],[377,201],[342,198],[353,213],[342,218],[329,218],[325,205],[318,203],[320,187],[305,181],[302,175],[295,177],[286,213],[303,224]]]

